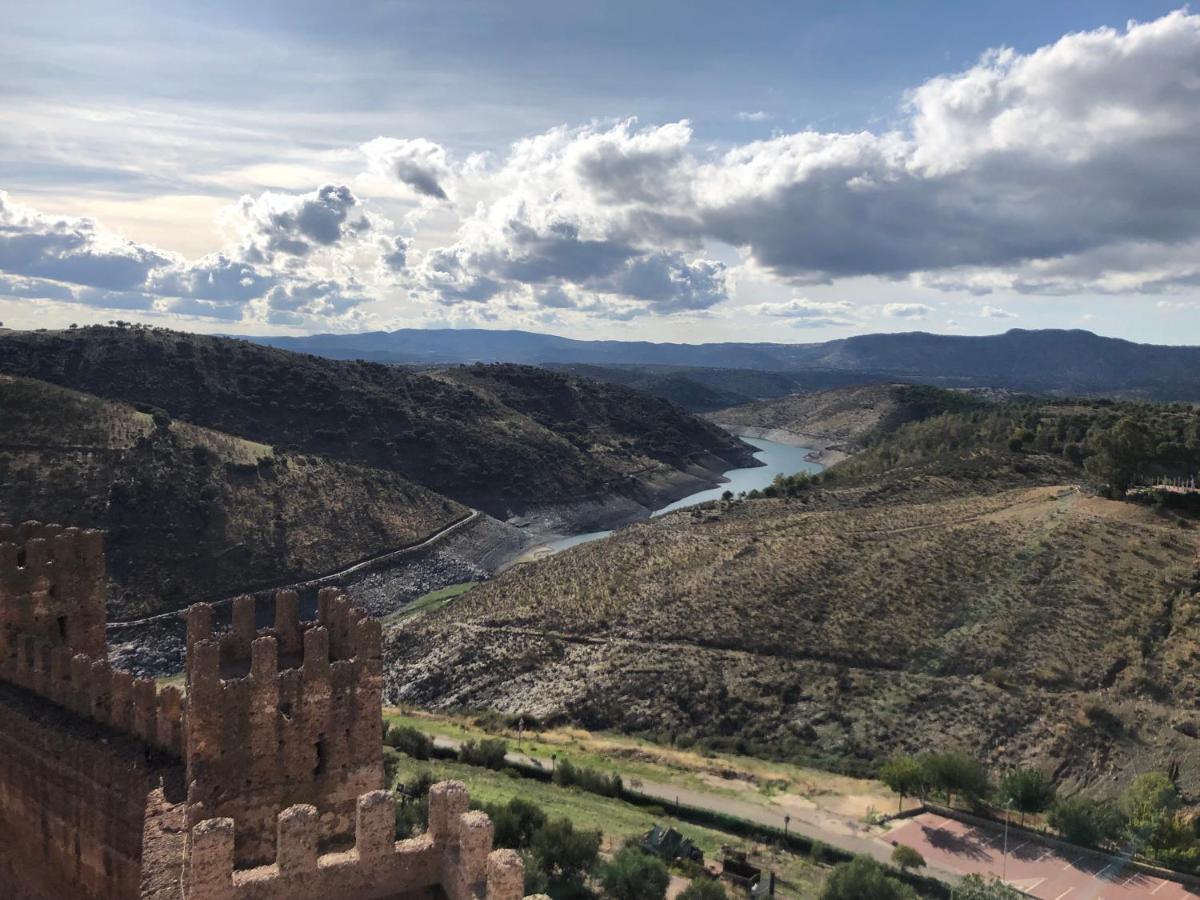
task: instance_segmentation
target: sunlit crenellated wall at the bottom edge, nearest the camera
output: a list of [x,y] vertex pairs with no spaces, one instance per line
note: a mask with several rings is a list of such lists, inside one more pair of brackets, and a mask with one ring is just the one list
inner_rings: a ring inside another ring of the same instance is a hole
[[396,800],[386,791],[358,798],[354,848],[318,853],[318,816],[306,804],[276,820],[276,859],[236,869],[236,826],[205,818],[188,834],[185,900],[340,900],[396,896],[440,886],[450,900],[520,900],[524,868],[511,850],[492,850],[493,827],[468,811],[467,788],[443,781],[430,790],[430,829],[396,841]]

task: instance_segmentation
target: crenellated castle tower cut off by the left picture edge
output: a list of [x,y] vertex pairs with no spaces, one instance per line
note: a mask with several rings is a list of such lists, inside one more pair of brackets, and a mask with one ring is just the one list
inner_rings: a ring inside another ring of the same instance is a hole
[[0,524],[0,658],[18,635],[104,656],[104,594],[100,532]]

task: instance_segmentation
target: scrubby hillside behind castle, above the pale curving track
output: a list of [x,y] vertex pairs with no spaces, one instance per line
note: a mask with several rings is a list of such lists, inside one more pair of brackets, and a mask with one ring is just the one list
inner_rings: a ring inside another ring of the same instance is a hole
[[113,620],[335,571],[468,512],[391,472],[32,379],[0,376],[0,521],[104,529]]

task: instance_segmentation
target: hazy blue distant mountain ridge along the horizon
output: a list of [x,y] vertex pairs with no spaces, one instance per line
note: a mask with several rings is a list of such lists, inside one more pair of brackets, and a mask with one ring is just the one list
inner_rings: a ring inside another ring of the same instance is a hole
[[822,372],[841,373],[847,382],[859,383],[901,379],[943,386],[1200,401],[1200,347],[1139,344],[1084,330],[1013,329],[988,336],[912,331],[797,344],[576,341],[484,329],[247,340],[322,356],[379,362],[503,361]]

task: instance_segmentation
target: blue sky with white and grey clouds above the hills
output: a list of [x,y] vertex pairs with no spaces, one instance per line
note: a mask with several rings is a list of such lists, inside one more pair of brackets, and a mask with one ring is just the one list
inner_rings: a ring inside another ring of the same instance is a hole
[[1200,343],[1200,13],[0,0],[0,322]]

